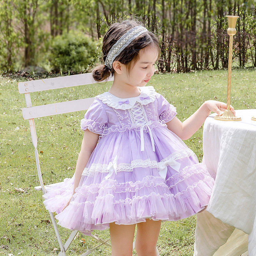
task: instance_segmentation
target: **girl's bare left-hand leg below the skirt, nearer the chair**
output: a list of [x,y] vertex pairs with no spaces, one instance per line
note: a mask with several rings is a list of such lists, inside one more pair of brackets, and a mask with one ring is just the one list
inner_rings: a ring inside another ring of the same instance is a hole
[[132,256],[134,225],[109,224],[112,256]]

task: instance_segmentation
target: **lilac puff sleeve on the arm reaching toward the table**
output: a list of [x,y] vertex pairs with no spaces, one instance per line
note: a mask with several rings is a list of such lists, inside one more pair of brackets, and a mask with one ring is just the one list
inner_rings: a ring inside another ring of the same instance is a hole
[[159,94],[157,95],[157,101],[158,101],[158,116],[161,121],[164,121],[165,123],[170,122],[176,115],[176,108],[170,104],[163,95]]

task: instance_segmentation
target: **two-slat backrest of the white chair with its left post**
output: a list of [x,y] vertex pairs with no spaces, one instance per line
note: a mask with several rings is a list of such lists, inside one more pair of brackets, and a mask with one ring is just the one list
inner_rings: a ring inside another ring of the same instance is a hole
[[[108,81],[112,81],[112,80],[113,80],[113,77],[108,79]],[[102,82],[106,82],[106,81],[102,81]],[[65,102],[46,104],[41,106],[32,106],[30,93],[60,89],[60,88],[68,88],[68,87],[80,86],[80,85],[86,85],[86,84],[95,84],[95,83],[97,82],[92,78],[92,73],[72,75],[72,76],[53,77],[53,78],[46,78],[46,79],[25,81],[25,82],[18,83],[19,93],[24,93],[25,95],[27,107],[22,108],[22,115],[24,119],[29,120],[32,143],[35,148],[38,178],[39,178],[39,182],[40,182],[43,193],[45,193],[45,189],[43,185],[41,168],[40,168],[39,157],[37,152],[37,135],[36,135],[34,118],[86,110],[90,107],[94,98],[92,97],[92,98],[86,98],[86,99],[80,99],[80,100],[70,100]]]

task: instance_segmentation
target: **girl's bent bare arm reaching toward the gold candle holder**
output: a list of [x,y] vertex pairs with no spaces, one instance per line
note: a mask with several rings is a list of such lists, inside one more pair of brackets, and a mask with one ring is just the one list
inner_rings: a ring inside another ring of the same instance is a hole
[[[217,115],[221,116],[226,109],[226,103],[216,100],[207,100],[183,123],[177,117],[174,117],[172,121],[166,124],[168,129],[178,135],[181,140],[188,140],[202,126],[206,117],[209,116],[211,112],[215,112]],[[235,114],[235,110],[232,106],[230,106],[230,110]]]

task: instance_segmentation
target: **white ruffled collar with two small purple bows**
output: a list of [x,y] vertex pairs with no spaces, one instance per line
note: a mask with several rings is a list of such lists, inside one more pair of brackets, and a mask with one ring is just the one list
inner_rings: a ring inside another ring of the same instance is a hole
[[96,96],[96,98],[107,104],[109,107],[123,110],[132,108],[136,102],[139,102],[142,105],[147,105],[156,99],[156,91],[153,86],[141,87],[140,91],[141,92],[139,96],[132,98],[118,98],[110,92],[104,92]]

